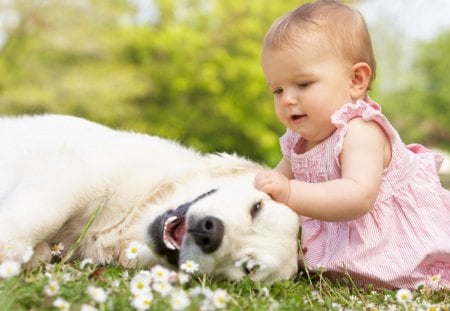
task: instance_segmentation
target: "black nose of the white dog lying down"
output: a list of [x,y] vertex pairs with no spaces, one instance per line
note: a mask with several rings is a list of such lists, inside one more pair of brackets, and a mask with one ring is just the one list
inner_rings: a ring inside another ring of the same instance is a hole
[[192,228],[188,229],[197,244],[204,253],[212,253],[222,243],[224,226],[216,217],[208,216],[199,220]]

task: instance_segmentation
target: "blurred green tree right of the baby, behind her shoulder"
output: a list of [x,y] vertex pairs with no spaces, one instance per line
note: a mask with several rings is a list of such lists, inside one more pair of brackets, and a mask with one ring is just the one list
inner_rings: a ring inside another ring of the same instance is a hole
[[402,87],[377,94],[406,142],[450,150],[449,54],[450,32],[419,43]]

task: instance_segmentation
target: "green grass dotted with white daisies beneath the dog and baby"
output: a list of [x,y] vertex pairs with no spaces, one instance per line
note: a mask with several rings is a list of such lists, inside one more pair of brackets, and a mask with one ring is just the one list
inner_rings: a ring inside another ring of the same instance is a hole
[[[447,177],[442,180],[448,187]],[[332,283],[321,273],[301,273],[295,280],[268,286],[249,278],[240,282],[214,281],[162,267],[142,272],[87,262],[66,263],[102,206],[60,263],[21,271],[5,262],[0,264],[1,311],[450,310],[450,289],[440,288],[439,279],[412,292],[401,292],[359,288],[350,278]]]

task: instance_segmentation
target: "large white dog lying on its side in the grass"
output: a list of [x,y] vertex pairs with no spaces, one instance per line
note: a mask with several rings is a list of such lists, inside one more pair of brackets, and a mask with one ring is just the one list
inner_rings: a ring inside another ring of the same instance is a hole
[[[200,273],[267,282],[297,271],[299,218],[253,187],[251,161],[58,115],[0,118],[0,148],[0,261],[29,246],[32,262],[49,261],[94,219],[72,260],[193,260]],[[148,245],[137,259],[133,241]]]

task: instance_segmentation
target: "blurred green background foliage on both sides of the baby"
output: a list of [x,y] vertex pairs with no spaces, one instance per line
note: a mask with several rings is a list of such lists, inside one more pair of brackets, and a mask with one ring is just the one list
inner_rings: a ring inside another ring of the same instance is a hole
[[[136,5],[144,2],[147,19]],[[301,2],[0,2],[9,21],[0,114],[72,114],[274,165],[284,129],[260,68],[261,43],[274,19]],[[401,101],[386,111],[408,139],[449,145],[449,36],[429,44],[408,89],[375,99]]]

